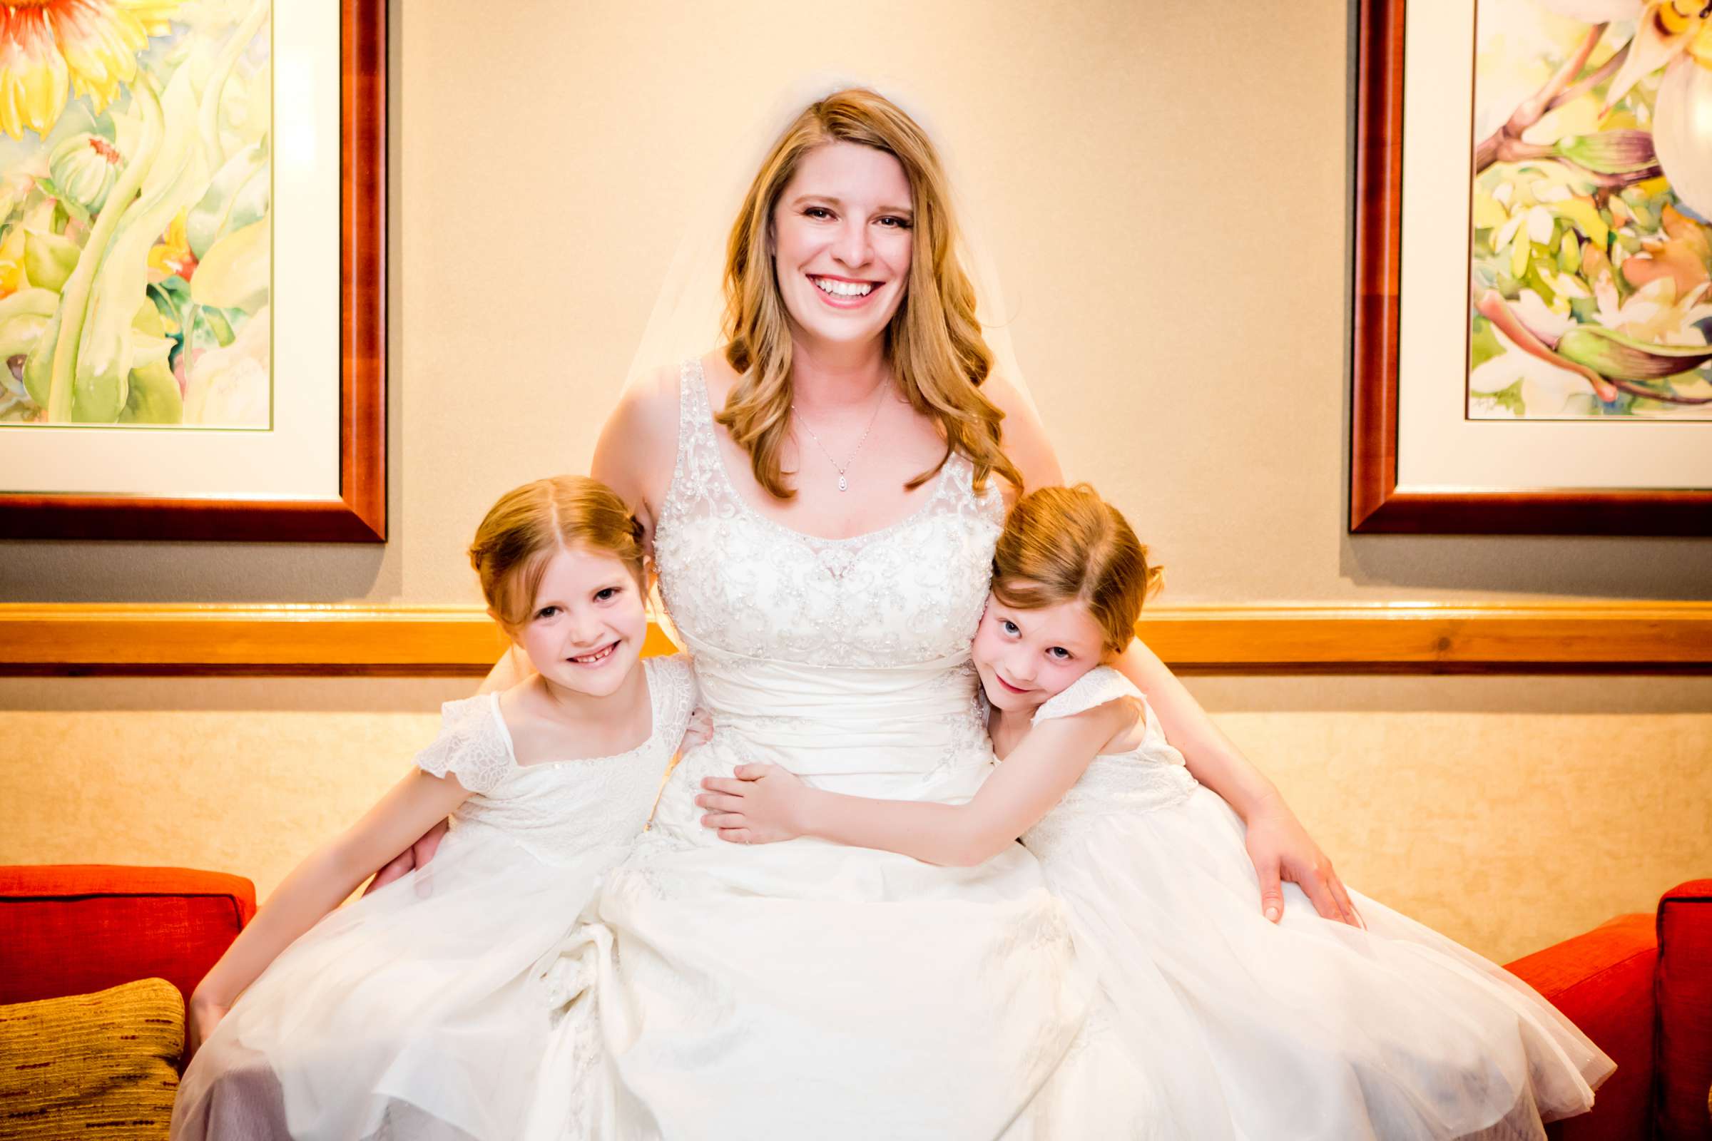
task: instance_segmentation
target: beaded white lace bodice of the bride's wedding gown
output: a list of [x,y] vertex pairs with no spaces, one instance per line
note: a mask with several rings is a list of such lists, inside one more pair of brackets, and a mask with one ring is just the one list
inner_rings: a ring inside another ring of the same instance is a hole
[[969,641],[1002,518],[998,488],[978,494],[954,455],[890,527],[854,539],[791,530],[733,484],[702,366],[687,363],[654,561],[714,736],[680,765],[656,825],[698,842],[693,780],[741,761],[859,795],[972,795],[991,749]]

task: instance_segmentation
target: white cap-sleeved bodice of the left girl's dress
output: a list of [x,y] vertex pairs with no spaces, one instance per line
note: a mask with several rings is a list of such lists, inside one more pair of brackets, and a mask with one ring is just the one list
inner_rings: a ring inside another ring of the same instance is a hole
[[435,777],[471,790],[459,830],[498,830],[548,864],[570,864],[596,847],[623,847],[647,821],[666,765],[695,710],[688,659],[645,659],[654,729],[613,756],[519,765],[496,693],[440,706],[440,736],[416,754]]

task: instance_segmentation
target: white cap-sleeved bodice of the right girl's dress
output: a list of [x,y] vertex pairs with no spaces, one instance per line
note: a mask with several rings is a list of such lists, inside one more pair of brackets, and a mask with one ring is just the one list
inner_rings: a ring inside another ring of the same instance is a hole
[[1123,696],[1142,701],[1147,717],[1142,727],[1142,742],[1126,753],[1096,756],[1082,778],[1065,794],[1065,799],[1024,833],[1022,842],[1041,860],[1049,859],[1061,842],[1085,831],[1082,825],[1089,816],[1147,813],[1176,804],[1198,787],[1183,765],[1183,754],[1166,741],[1164,729],[1159,727],[1159,718],[1147,705],[1147,698],[1128,677],[1109,665],[1096,665],[1068,689],[1049,698],[1034,710],[1031,724],[1037,725],[1053,717],[1073,717]]

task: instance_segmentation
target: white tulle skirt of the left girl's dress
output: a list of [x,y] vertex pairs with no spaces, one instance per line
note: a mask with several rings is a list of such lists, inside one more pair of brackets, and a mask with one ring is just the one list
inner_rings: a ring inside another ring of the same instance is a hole
[[455,828],[238,997],[185,1073],[173,1138],[556,1141],[597,1115],[609,1083],[567,946],[618,859],[551,866]]

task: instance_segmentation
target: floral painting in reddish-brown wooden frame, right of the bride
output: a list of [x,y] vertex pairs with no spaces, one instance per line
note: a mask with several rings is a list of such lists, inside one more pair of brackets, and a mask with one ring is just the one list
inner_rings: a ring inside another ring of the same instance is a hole
[[1712,535],[1712,5],[1363,0],[1352,532]]

